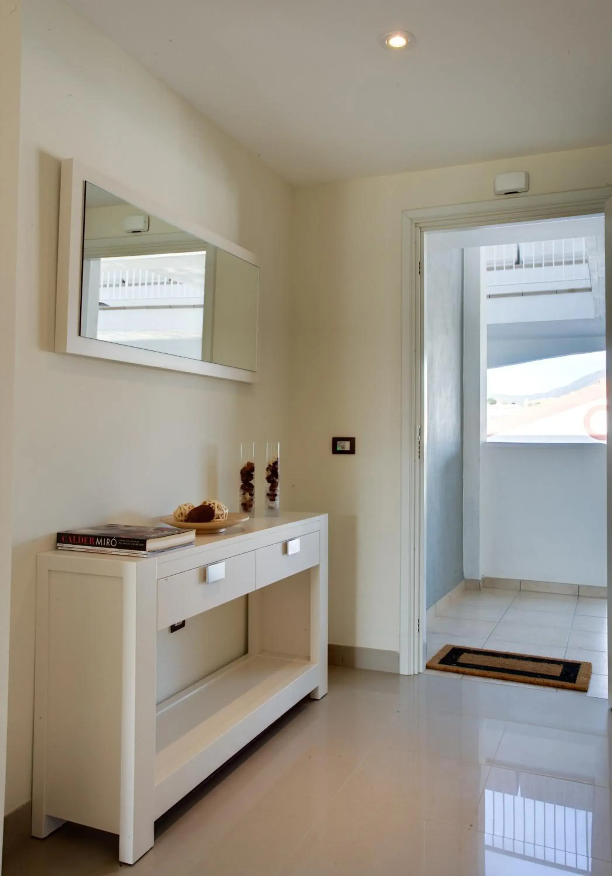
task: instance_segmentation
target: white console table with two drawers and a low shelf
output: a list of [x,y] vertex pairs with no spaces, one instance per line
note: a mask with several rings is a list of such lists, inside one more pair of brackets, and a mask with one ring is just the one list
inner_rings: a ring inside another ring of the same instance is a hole
[[[269,586],[306,569],[310,599]],[[157,631],[245,596],[248,652],[156,704]],[[309,639],[310,653],[279,653],[304,640],[308,652]],[[252,519],[157,558],[40,554],[32,834],[65,821],[107,830],[133,864],[156,818],[326,692],[326,515]]]

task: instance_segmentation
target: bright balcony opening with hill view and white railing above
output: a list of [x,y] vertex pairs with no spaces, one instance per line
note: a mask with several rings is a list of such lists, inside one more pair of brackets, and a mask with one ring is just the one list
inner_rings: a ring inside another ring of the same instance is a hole
[[605,442],[602,239],[485,250],[487,440]]

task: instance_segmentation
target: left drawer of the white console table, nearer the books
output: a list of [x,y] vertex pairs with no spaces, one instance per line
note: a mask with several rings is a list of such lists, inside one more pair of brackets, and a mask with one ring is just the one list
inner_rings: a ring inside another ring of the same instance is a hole
[[255,590],[255,552],[190,569],[157,582],[157,628],[193,618]]

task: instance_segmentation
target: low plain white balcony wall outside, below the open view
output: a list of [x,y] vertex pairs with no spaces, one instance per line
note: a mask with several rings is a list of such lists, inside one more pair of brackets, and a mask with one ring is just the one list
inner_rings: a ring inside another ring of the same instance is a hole
[[605,586],[606,448],[508,446],[482,453],[482,574]]

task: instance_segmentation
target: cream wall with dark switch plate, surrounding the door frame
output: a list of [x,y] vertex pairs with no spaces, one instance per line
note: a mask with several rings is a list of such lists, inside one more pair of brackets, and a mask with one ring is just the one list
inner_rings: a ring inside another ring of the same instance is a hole
[[[294,222],[292,502],[330,518],[330,640],[397,651],[402,210],[612,182],[612,146],[305,187]],[[334,434],[356,456],[331,455]]]

